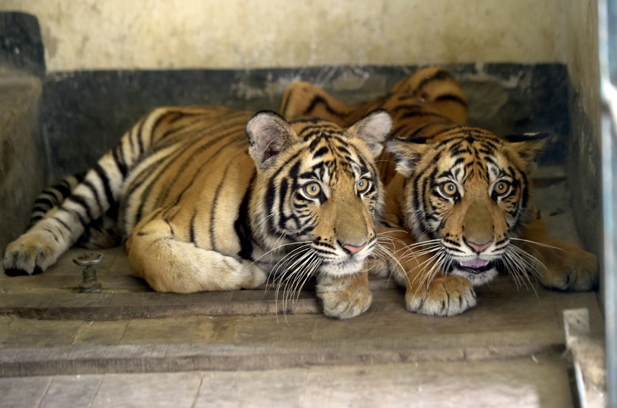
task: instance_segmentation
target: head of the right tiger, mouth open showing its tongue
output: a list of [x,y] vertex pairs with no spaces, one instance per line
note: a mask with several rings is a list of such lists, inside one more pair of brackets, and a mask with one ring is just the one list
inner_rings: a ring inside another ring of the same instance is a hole
[[543,139],[449,126],[387,143],[405,177],[402,221],[441,270],[481,285],[524,263],[512,242],[534,216],[529,175]]

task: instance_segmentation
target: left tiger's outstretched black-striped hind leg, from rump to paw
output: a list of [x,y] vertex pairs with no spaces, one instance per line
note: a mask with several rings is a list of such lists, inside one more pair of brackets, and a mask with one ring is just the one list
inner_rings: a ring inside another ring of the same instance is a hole
[[[62,204],[51,208],[24,235],[7,246],[3,258],[5,273],[34,274],[55,263],[94,220],[119,203],[128,174],[150,153],[154,143],[165,145],[162,139],[173,140],[192,123],[219,112],[217,108],[158,108],[143,117],[121,137],[116,147],[86,172]],[[74,184],[75,180],[71,182]]]

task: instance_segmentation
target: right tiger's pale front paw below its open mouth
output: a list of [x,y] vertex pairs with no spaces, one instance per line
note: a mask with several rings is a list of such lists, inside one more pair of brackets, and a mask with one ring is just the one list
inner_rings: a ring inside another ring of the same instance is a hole
[[476,293],[469,280],[461,276],[440,276],[428,287],[407,288],[407,310],[422,315],[459,315],[476,305]]

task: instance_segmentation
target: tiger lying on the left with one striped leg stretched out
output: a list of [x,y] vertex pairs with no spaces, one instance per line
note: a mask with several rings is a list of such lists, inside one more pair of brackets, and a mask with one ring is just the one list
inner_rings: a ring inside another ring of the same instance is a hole
[[[298,288],[316,278],[325,315],[372,302],[385,110],[341,128],[220,106],[156,108],[101,156],[62,204],[10,243],[10,276],[45,271],[117,205],[132,272],[155,291]],[[299,289],[298,289],[299,290]],[[278,293],[278,291],[277,291]]]

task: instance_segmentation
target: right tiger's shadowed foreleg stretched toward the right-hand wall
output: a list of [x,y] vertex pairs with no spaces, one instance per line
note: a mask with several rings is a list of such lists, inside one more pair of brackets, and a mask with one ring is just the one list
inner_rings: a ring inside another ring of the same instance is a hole
[[574,291],[598,285],[598,258],[578,245],[551,237],[542,217],[525,226],[520,239],[516,243],[528,254],[525,261],[542,285]]

